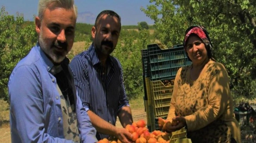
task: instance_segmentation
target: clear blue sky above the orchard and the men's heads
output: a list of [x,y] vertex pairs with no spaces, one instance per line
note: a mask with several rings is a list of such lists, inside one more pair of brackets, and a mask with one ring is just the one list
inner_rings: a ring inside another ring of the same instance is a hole
[[[103,10],[115,11],[121,16],[122,25],[138,25],[138,22],[146,21],[153,25],[151,20],[140,8],[151,5],[149,0],[74,0],[78,13],[91,13],[93,19]],[[24,15],[25,20],[32,20],[37,15],[38,0],[0,0],[0,6],[5,6],[5,11],[10,15],[17,12]],[[92,22],[85,22],[92,23]]]

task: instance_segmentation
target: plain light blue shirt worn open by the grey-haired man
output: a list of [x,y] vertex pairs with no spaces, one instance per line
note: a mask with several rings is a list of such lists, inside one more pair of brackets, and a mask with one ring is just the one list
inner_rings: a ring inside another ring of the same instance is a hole
[[[73,79],[68,59],[63,62],[63,69],[69,70]],[[50,73],[53,66],[39,45],[36,45],[13,69],[8,82],[13,143],[73,142],[64,139],[60,95],[56,78]],[[76,95],[74,85],[73,94],[80,141],[97,142],[96,130]]]

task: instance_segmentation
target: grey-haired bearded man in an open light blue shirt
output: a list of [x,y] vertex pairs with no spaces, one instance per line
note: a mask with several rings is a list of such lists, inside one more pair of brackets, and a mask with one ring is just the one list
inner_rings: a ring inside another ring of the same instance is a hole
[[13,143],[98,142],[66,57],[76,19],[73,0],[39,0],[38,42],[8,82]]

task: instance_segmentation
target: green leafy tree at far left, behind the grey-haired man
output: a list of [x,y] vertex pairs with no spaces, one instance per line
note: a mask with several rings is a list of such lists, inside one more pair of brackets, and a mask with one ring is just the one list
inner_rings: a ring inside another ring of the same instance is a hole
[[35,26],[24,21],[23,15],[0,12],[0,98],[8,100],[8,79],[17,62],[28,54],[37,41]]

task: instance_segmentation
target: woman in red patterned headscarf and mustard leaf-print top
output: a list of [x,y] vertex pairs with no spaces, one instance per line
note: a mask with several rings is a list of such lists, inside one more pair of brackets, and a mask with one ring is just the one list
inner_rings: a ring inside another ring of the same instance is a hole
[[192,64],[177,71],[167,117],[173,124],[165,123],[163,130],[173,132],[185,127],[193,143],[240,143],[228,74],[212,57],[207,31],[200,26],[189,27],[183,44]]

